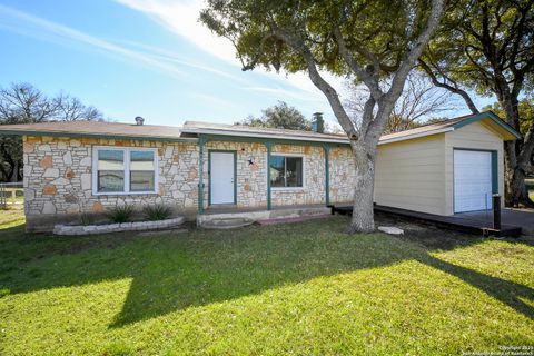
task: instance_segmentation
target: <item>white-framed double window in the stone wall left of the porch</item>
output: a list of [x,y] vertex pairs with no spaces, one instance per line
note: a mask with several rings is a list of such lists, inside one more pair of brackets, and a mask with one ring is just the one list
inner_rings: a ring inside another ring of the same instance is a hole
[[155,149],[95,148],[95,194],[156,192]]

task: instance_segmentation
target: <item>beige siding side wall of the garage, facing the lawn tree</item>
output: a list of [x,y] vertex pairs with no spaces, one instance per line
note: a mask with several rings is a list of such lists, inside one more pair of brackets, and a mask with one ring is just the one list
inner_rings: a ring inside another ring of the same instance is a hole
[[375,202],[446,214],[444,148],[444,134],[378,146]]

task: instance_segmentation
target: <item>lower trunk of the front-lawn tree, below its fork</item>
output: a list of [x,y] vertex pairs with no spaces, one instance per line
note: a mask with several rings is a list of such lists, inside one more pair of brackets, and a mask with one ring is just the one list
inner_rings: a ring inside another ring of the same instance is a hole
[[369,151],[362,142],[353,144],[352,148],[355,164],[355,189],[353,219],[347,227],[347,233],[373,233],[375,230],[373,195],[376,148]]

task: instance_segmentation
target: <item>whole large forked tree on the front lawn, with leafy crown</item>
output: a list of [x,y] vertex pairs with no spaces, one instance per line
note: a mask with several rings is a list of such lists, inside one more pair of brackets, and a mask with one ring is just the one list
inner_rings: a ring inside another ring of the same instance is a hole
[[[355,161],[349,233],[373,231],[378,138],[404,82],[437,28],[443,0],[257,1],[208,0],[200,19],[228,38],[244,70],[258,66],[304,71],[325,95]],[[323,71],[369,90],[359,125],[352,120]],[[390,80],[384,89],[380,82]]]

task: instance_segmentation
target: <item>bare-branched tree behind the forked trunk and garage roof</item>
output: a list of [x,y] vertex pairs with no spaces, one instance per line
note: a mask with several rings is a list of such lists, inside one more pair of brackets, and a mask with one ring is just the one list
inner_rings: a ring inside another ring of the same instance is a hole
[[[368,90],[365,87],[346,82],[348,99],[345,106],[354,117],[362,117]],[[423,73],[413,71],[406,79],[403,93],[392,110],[385,135],[409,130],[426,123],[433,123],[436,116],[456,109],[456,100],[453,95],[442,88],[437,88]],[[443,119],[441,119],[443,120]]]

